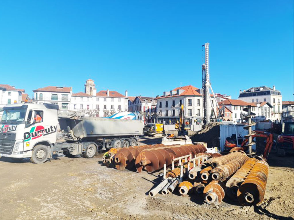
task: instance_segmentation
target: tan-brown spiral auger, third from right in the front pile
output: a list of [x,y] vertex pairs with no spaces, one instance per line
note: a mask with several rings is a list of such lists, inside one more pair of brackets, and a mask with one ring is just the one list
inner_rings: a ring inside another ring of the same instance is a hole
[[223,181],[229,176],[233,175],[247,160],[247,155],[241,155],[240,157],[231,160],[229,163],[220,165],[210,171],[213,180]]

